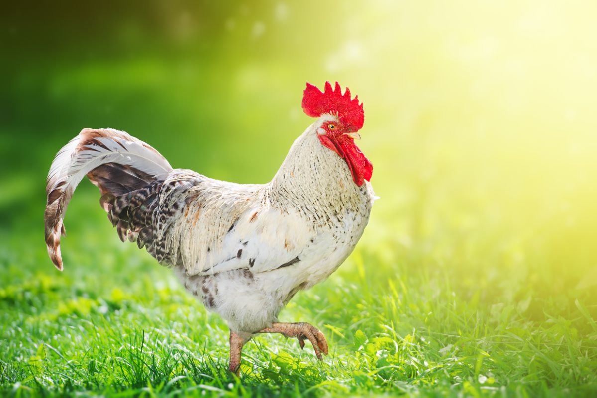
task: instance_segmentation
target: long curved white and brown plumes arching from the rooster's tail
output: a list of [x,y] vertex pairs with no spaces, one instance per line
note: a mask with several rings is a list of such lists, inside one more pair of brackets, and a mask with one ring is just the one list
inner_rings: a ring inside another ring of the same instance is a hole
[[171,170],[158,151],[124,131],[85,128],[70,140],[54,158],[45,188],[45,242],[56,268],[63,269],[60,235],[65,235],[64,212],[85,174],[99,187],[107,211],[109,198],[164,180]]

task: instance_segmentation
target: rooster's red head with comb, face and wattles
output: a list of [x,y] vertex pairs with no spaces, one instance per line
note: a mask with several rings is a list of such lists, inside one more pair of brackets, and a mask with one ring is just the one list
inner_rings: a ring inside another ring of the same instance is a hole
[[334,89],[330,82],[325,82],[323,92],[307,83],[303,94],[303,110],[313,118],[331,116],[324,118],[317,128],[319,141],[346,161],[352,179],[361,186],[364,180],[371,179],[373,165],[355,144],[355,139],[361,138],[358,131],[365,121],[363,104],[359,105],[357,97],[355,95],[351,100],[348,88],[343,95],[338,82]]

